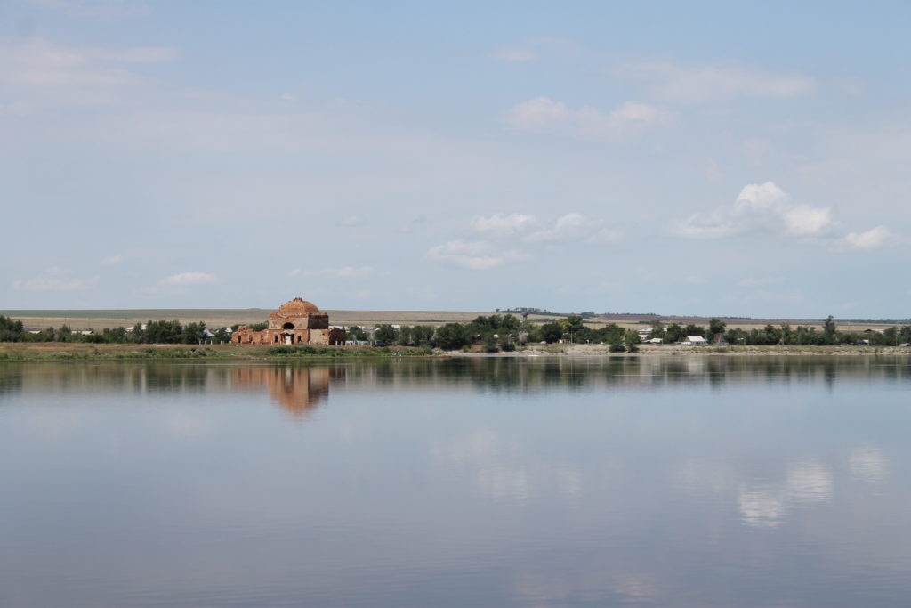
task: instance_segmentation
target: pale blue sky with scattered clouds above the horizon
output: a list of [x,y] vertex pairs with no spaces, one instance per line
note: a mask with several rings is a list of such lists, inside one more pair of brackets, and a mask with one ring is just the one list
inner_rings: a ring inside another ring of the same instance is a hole
[[0,309],[902,316],[904,2],[0,1]]

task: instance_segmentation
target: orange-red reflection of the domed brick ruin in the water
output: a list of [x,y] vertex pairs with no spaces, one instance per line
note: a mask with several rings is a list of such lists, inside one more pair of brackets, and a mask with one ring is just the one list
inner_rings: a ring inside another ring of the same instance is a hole
[[269,397],[292,414],[303,414],[329,396],[329,380],[344,368],[327,366],[235,367],[233,386],[251,389],[265,386]]

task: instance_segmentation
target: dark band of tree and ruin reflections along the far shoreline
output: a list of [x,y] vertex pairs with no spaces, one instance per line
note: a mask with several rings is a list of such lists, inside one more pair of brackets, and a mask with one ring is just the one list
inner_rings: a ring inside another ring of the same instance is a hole
[[26,393],[211,393],[255,386],[304,411],[329,386],[407,390],[473,386],[495,393],[534,394],[553,388],[666,388],[764,382],[822,382],[830,389],[852,381],[911,382],[908,356],[593,356],[452,357],[414,360],[290,362],[269,365],[186,363],[0,364],[0,398]]

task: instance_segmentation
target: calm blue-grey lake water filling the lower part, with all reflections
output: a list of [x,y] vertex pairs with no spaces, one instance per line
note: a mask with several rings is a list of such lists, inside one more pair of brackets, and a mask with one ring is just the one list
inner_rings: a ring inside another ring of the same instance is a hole
[[911,602],[911,359],[0,366],[6,606]]

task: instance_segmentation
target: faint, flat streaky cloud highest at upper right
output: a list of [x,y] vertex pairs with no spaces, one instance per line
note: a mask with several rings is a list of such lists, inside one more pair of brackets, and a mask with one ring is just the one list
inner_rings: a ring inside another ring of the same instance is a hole
[[616,66],[610,72],[646,82],[660,98],[689,103],[798,98],[818,88],[814,77],[798,72],[772,72],[737,64],[681,66],[670,61],[641,61]]

